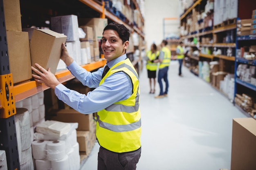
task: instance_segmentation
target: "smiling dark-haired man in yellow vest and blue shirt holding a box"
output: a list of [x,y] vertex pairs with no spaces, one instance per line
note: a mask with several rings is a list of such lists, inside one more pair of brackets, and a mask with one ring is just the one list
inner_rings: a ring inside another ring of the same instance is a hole
[[62,44],[61,60],[72,75],[95,88],[87,95],[66,88],[50,69],[31,67],[38,74],[34,79],[54,89],[58,99],[82,114],[97,112],[98,170],[136,170],[141,155],[139,77],[126,56],[129,37],[123,24],[108,24],[101,44],[107,64],[92,73],[79,66]]

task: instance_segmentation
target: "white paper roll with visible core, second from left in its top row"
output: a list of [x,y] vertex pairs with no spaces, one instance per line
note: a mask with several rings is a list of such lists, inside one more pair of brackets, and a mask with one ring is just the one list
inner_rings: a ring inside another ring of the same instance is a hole
[[46,156],[49,161],[58,161],[63,159],[65,151],[65,141],[49,141],[46,144]]

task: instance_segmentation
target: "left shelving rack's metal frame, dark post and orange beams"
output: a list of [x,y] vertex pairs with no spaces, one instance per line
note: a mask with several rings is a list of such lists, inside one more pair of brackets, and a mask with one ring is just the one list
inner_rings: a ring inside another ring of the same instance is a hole
[[[144,33],[141,29],[124,23],[117,18],[117,16],[107,11],[104,8],[104,1],[102,5],[93,0],[79,1],[99,12],[100,18],[108,18],[119,24],[124,24],[128,29],[136,31],[144,38]],[[137,2],[135,0],[132,0],[132,2],[138,8]],[[16,114],[15,102],[35,95],[41,91],[45,91],[48,87],[44,84],[38,84],[36,81],[29,81],[15,86],[13,85],[12,74],[9,69],[3,0],[0,0],[0,8],[0,150],[5,150],[6,152],[8,170],[20,170],[16,125],[14,119],[14,115]],[[88,71],[93,71],[97,68],[103,67],[105,64],[106,60],[102,59],[97,62],[82,65],[82,67]],[[67,69],[56,72],[55,76],[61,83],[74,78]]]

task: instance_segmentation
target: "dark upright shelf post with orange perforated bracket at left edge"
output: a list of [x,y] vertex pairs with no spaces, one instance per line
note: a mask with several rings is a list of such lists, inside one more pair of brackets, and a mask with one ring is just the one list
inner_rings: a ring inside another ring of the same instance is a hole
[[20,170],[13,79],[9,67],[4,4],[0,0],[0,150],[5,150],[8,170]]

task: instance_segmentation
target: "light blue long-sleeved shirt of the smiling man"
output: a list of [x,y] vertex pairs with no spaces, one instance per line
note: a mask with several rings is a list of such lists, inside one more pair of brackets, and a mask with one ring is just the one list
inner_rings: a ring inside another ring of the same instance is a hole
[[[107,62],[107,65],[111,68],[126,58],[126,54],[121,55],[120,57]],[[110,75],[105,79],[105,82],[99,86],[105,66],[92,73],[86,71],[76,62],[72,62],[67,68],[84,86],[95,88],[85,95],[70,90],[63,84],[59,84],[55,87],[55,94],[58,99],[80,113],[90,114],[98,112],[115,102],[128,99],[130,95],[132,95],[132,81],[130,77],[122,71]]]

